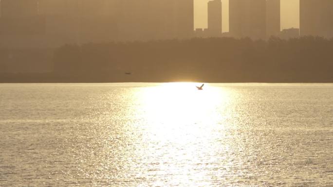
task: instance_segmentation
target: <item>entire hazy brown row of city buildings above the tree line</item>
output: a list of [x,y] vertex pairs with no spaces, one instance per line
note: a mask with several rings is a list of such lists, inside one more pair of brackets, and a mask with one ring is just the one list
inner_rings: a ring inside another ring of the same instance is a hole
[[[280,33],[285,29],[281,19],[287,14],[282,11],[283,0],[223,1],[207,1],[207,27],[201,31],[195,25],[193,0],[2,0],[0,36],[5,47],[212,36],[268,39],[288,32],[295,36],[294,30]],[[330,0],[301,0],[299,21],[304,30],[300,34],[330,38],[332,4]],[[223,5],[228,5],[229,32],[225,34]]]

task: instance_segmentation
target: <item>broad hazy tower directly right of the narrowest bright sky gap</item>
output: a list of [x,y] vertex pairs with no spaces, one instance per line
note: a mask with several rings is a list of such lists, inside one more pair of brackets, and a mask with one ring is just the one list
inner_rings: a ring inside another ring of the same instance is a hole
[[266,38],[266,0],[229,0],[229,31],[234,37]]

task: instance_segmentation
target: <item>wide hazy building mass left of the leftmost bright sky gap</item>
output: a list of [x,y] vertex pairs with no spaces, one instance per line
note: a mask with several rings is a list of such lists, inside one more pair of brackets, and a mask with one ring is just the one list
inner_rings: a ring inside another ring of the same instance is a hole
[[0,0],[0,5],[3,46],[194,36],[193,0]]

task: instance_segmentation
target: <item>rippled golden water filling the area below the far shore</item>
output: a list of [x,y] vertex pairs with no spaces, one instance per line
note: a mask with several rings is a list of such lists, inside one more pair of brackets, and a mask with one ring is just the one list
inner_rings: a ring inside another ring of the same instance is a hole
[[333,187],[333,84],[194,85],[0,84],[0,187]]

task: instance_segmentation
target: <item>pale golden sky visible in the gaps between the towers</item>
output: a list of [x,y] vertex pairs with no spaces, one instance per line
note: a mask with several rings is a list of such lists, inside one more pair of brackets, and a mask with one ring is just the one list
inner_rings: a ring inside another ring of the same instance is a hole
[[[208,0],[194,0],[195,28],[207,27],[207,2]],[[229,30],[228,16],[229,0],[222,0],[222,30]],[[281,29],[299,28],[299,0],[281,0]]]

